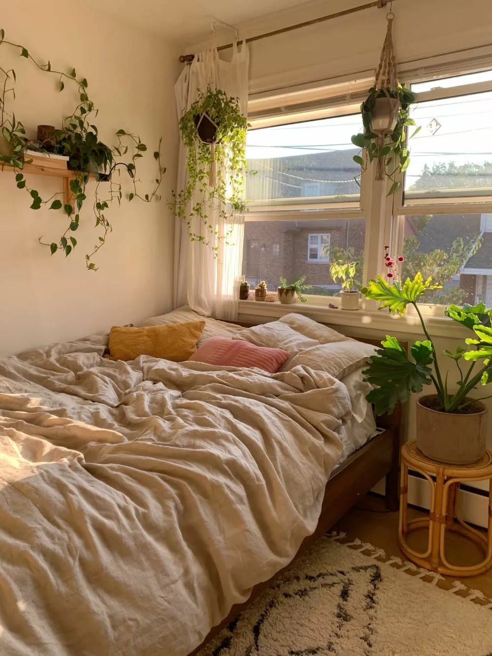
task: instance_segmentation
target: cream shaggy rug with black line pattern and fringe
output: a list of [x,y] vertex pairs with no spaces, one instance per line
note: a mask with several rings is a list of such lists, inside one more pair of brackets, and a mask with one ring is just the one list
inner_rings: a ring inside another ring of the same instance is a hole
[[492,656],[481,592],[343,538],[316,543],[199,656]]

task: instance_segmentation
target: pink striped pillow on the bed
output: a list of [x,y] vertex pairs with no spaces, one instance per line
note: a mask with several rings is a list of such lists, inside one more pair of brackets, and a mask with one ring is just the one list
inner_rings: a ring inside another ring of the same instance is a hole
[[225,367],[258,367],[275,373],[290,354],[281,348],[255,346],[241,339],[211,337],[188,361],[205,362]]

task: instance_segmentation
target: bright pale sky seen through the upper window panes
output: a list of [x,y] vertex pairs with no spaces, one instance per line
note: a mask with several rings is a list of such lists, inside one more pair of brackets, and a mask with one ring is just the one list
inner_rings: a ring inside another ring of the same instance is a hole
[[[482,81],[492,81],[492,71],[419,83],[412,89],[419,93]],[[461,165],[492,161],[492,92],[420,102],[413,106],[411,117],[421,129],[409,140],[411,163],[406,188],[418,180],[426,164],[432,167],[441,162]],[[356,114],[250,130],[247,157],[272,159],[346,150],[354,148],[350,138],[361,129],[361,117]],[[414,130],[411,127],[409,134]]]

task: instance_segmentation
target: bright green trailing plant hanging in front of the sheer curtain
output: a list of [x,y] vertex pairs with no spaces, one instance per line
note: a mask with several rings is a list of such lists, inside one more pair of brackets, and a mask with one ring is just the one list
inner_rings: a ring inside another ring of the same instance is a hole
[[[211,87],[198,92],[179,121],[181,140],[187,150],[186,184],[182,190],[173,191],[169,206],[186,225],[190,240],[211,246],[215,253],[217,241],[228,243],[236,216],[246,209],[247,128],[239,99]],[[230,225],[225,235],[218,234],[209,218],[213,203]],[[200,234],[193,228],[195,218],[203,224]]]

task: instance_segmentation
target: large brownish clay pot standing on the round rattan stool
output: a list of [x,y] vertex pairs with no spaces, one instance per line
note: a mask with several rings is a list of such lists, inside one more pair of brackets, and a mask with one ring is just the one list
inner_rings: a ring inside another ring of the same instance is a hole
[[424,399],[437,399],[437,394],[422,396],[417,401],[417,446],[428,458],[449,464],[470,464],[482,458],[486,449],[487,408],[470,415],[445,413],[422,405]]

